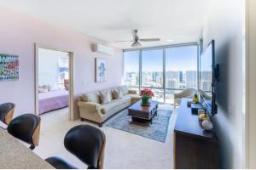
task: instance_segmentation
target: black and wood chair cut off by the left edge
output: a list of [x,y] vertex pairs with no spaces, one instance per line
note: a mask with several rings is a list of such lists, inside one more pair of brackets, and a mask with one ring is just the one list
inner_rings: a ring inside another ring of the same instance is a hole
[[4,103],[0,105],[0,121],[8,125],[13,119],[15,112],[15,104]]

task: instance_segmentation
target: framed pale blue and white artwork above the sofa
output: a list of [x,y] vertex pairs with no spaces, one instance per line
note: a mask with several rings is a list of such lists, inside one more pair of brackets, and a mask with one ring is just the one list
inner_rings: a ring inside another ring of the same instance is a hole
[[96,59],[96,82],[107,81],[107,67],[106,59]]

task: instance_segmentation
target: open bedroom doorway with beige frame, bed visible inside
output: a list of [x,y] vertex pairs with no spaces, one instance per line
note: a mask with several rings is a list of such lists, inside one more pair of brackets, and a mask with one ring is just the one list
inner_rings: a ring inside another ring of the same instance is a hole
[[39,44],[35,48],[36,114],[67,114],[73,121],[73,52]]

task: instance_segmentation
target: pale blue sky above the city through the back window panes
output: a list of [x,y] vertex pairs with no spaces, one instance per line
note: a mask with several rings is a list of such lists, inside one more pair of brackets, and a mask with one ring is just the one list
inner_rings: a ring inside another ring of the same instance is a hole
[[[125,52],[125,71],[138,71],[139,51]],[[163,71],[163,50],[143,50],[143,71]],[[197,47],[166,48],[166,71],[196,71]]]

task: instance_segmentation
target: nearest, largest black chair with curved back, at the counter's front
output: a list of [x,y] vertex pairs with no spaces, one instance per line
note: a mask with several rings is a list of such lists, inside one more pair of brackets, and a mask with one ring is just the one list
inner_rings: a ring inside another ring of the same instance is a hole
[[[105,144],[106,138],[102,130],[90,125],[73,127],[64,138],[65,148],[83,161],[88,169],[103,168]],[[76,168],[56,156],[49,157],[45,161],[57,169]]]

